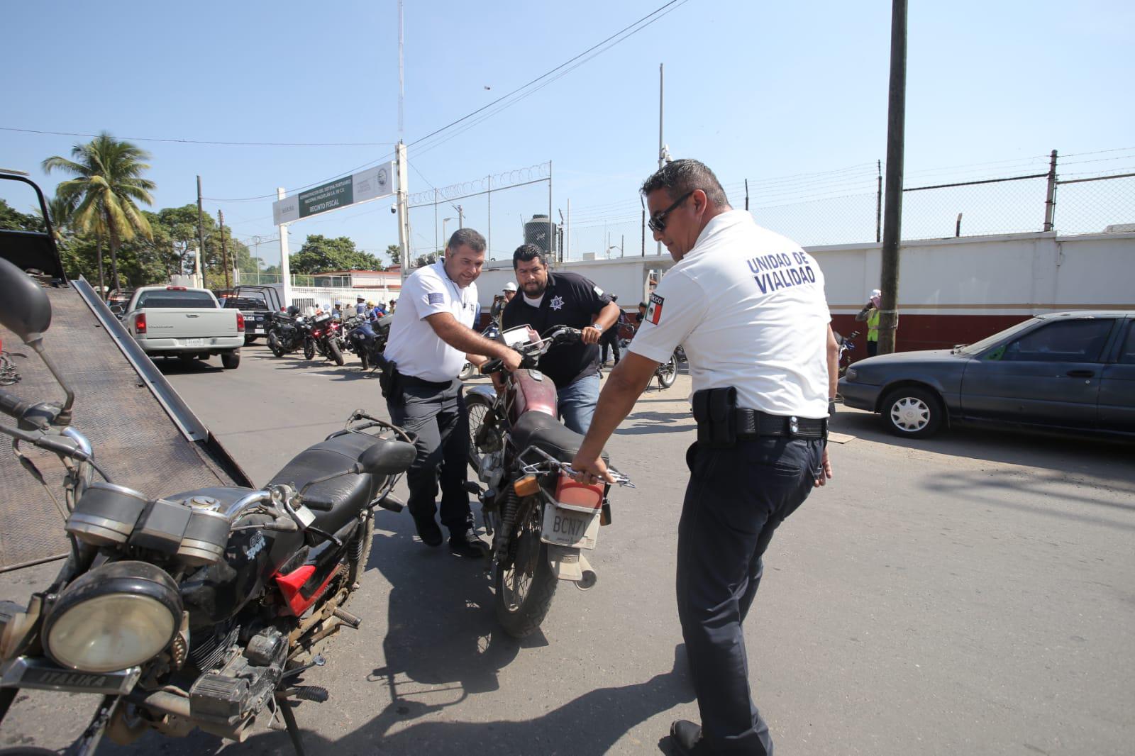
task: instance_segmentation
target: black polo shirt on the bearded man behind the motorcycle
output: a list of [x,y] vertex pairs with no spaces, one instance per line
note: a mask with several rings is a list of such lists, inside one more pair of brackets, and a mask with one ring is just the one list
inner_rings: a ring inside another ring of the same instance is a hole
[[[523,291],[516,292],[501,314],[502,330],[531,326],[543,336],[553,326],[586,328],[608,302],[611,295],[594,282],[578,274],[548,271],[548,286],[544,289],[540,306],[533,308],[524,301]],[[540,358],[540,372],[550,378],[556,388],[598,371],[598,344],[558,344]]]

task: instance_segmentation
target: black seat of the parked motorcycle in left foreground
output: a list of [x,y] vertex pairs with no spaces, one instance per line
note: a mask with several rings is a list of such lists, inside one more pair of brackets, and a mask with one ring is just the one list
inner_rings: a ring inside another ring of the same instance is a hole
[[[316,478],[351,469],[359,455],[373,444],[375,439],[363,434],[343,434],[328,438],[296,454],[268,485],[292,484],[297,489],[303,488]],[[326,512],[312,510],[316,515],[313,524],[327,532],[338,531],[370,503],[381,482],[381,477],[348,473],[316,484],[304,497],[331,502],[333,506]]]

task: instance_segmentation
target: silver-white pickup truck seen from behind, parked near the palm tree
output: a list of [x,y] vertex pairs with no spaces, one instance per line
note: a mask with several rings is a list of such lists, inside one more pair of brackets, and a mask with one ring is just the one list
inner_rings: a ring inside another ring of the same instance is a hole
[[225,368],[241,364],[244,314],[221,309],[207,288],[143,286],[134,292],[121,318],[151,360],[176,356],[191,362],[219,354]]

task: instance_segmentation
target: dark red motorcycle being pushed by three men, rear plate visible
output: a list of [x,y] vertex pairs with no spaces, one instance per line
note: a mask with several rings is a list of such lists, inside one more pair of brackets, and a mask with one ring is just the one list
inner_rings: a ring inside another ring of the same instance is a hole
[[[497,620],[523,638],[540,627],[561,580],[581,590],[595,585],[583,552],[595,548],[599,527],[611,524],[611,485],[572,480],[583,437],[556,419],[555,384],[536,369],[550,346],[577,342],[580,331],[556,326],[540,338],[521,326],[499,338],[523,361],[512,373],[499,360],[482,366],[481,372],[504,372],[499,394],[489,386],[469,390],[469,463],[485,485],[477,489],[493,537]],[[606,452],[603,460],[619,485],[634,487],[609,467]]]

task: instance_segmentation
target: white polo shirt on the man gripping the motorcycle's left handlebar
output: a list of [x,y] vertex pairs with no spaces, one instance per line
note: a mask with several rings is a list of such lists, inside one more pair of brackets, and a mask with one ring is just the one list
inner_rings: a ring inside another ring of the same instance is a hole
[[422,380],[453,380],[465,364],[465,353],[455,350],[434,333],[426,318],[448,312],[466,328],[477,316],[477,284],[457,286],[438,260],[419,268],[402,284],[398,306],[390,324],[386,359],[398,366],[398,372]]

